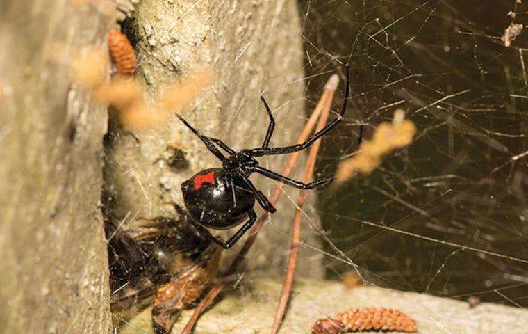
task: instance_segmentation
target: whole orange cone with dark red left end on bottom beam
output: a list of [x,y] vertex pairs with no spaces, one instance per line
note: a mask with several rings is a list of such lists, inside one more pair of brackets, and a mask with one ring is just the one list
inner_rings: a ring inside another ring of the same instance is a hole
[[315,321],[313,334],[339,334],[357,331],[398,331],[416,333],[416,321],[391,308],[350,308],[335,318]]

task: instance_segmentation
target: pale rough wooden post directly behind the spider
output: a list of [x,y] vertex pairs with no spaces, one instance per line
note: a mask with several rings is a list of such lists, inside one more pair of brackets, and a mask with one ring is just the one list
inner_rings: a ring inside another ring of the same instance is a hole
[[[129,28],[137,41],[138,75],[152,103],[164,85],[211,69],[213,85],[197,98],[192,110],[184,113],[195,127],[207,136],[222,138],[235,150],[257,146],[263,141],[268,122],[258,99],[263,93],[277,120],[272,145],[296,140],[305,111],[302,40],[295,1],[143,0]],[[219,165],[176,118],[162,129],[135,136],[139,143],[133,136],[115,136],[108,149],[108,189],[117,200],[115,216],[118,220],[127,217],[125,223],[133,223],[138,216],[172,214],[161,203],[174,200],[183,204],[181,182],[199,170]],[[180,170],[156,163],[167,157],[167,144],[174,141],[188,147],[188,164]],[[263,166],[281,170],[285,157],[261,161]],[[274,182],[258,176],[253,179],[264,193],[270,193]],[[288,197],[297,193],[292,189],[286,192],[277,205],[277,214],[248,256],[252,267],[282,268],[286,262],[294,211]],[[319,221],[310,206],[306,207],[311,219],[304,224],[303,240],[320,248]],[[322,276],[320,262],[311,260],[309,253],[306,250],[301,255],[299,272]],[[224,252],[227,257],[233,254],[236,250]]]

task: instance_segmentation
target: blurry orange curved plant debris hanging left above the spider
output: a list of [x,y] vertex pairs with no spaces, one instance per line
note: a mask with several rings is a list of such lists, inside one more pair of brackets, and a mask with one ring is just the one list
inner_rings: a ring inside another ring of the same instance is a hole
[[106,81],[107,59],[104,52],[97,50],[79,56],[74,62],[74,79],[87,87],[97,100],[108,104],[115,113],[113,116],[131,130],[165,125],[169,116],[188,107],[196,95],[211,84],[210,72],[198,72],[167,87],[159,106],[151,106],[147,104],[142,86],[135,78],[117,77]]

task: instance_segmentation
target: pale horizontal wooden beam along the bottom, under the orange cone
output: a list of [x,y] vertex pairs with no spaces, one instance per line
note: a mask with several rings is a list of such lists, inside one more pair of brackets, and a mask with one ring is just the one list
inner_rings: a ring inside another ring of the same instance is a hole
[[[240,293],[231,293],[201,317],[195,333],[270,333],[274,309],[281,293],[281,279],[247,279]],[[345,292],[341,283],[299,280],[279,333],[310,333],[317,319],[335,316],[348,308],[396,308],[418,323],[418,333],[526,333],[528,311],[504,305],[468,303],[452,299],[397,292],[379,287],[357,287]],[[150,309],[135,317],[122,334],[150,334]],[[192,310],[183,312],[172,333],[179,334]],[[380,333],[380,332],[361,332]],[[390,332],[397,333],[397,332]]]

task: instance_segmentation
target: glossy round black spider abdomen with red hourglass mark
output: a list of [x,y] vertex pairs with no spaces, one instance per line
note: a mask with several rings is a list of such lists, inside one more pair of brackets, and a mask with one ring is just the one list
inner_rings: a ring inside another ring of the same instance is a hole
[[181,191],[192,218],[216,230],[242,223],[255,203],[244,180],[222,168],[202,170],[183,182]]

